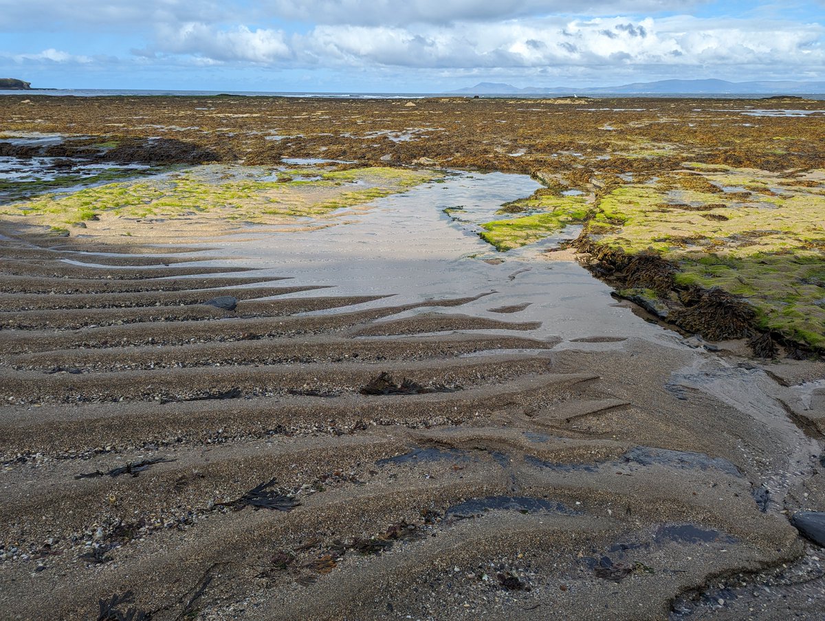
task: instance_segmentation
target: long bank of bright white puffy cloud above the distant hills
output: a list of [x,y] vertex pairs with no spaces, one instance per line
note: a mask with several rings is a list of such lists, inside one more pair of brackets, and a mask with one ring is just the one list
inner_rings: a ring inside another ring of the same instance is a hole
[[632,20],[559,17],[450,25],[316,26],[221,31],[190,24],[163,30],[153,49],[219,62],[415,68],[714,66],[825,63],[823,26],[692,17]]

